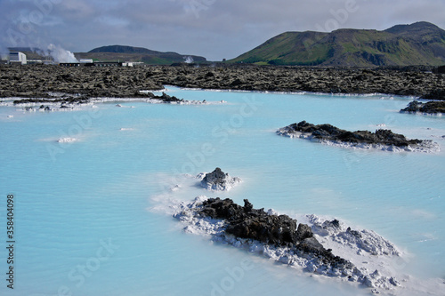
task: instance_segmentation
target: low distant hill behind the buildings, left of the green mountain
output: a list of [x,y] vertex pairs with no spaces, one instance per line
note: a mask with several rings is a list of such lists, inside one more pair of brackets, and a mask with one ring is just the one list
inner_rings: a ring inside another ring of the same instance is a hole
[[101,61],[142,61],[152,65],[170,65],[183,62],[188,57],[194,62],[204,62],[206,58],[196,55],[179,54],[177,52],[156,52],[143,47],[109,45],[94,48],[90,52],[76,52],[77,59],[93,59]]

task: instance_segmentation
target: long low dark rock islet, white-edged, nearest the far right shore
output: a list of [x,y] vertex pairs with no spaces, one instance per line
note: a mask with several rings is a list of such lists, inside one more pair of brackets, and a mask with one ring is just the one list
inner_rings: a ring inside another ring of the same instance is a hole
[[391,130],[376,132],[350,132],[331,124],[309,124],[302,121],[280,128],[277,133],[290,138],[302,138],[349,148],[379,148],[389,151],[432,151],[437,147],[432,140],[409,140],[404,135]]

